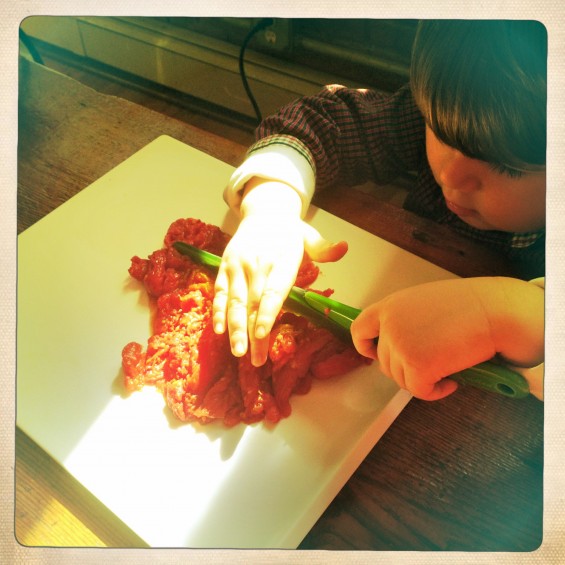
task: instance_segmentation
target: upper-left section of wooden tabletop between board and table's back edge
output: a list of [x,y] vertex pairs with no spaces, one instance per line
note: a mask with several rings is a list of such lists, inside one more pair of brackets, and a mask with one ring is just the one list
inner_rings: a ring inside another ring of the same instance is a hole
[[237,165],[246,148],[22,59],[18,232],[160,135]]

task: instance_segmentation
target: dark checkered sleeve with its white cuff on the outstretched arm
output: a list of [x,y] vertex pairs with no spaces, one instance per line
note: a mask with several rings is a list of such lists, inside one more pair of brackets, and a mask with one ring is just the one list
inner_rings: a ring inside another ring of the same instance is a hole
[[424,122],[408,86],[395,94],[326,86],[263,120],[224,193],[237,208],[253,176],[280,180],[305,211],[314,190],[392,181],[425,159]]

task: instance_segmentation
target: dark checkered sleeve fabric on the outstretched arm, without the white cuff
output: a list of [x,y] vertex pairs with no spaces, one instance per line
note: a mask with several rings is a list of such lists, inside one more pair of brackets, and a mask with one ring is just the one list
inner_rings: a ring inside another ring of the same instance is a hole
[[317,189],[390,182],[425,155],[424,121],[408,86],[394,94],[326,86],[285,106],[257,130],[259,144],[277,135],[308,148]]

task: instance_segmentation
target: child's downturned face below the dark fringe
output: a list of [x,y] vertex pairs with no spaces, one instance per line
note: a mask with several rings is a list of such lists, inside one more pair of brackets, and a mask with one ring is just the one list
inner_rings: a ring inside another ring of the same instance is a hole
[[545,226],[545,171],[497,171],[445,145],[430,128],[426,151],[447,207],[470,226],[507,232]]

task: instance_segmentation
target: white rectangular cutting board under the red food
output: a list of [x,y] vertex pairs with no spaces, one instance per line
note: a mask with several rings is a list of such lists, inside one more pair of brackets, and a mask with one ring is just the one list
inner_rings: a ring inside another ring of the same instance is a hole
[[[150,331],[130,258],[179,217],[233,232],[232,170],[159,137],[19,236],[17,424],[154,547],[296,547],[409,400],[376,364],[314,383],[274,427],[181,424],[152,387],[124,393],[122,347]],[[353,306],[454,276],[322,210],[308,221],[349,242],[315,286]]]

